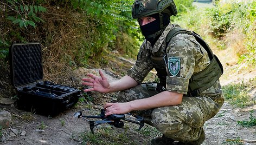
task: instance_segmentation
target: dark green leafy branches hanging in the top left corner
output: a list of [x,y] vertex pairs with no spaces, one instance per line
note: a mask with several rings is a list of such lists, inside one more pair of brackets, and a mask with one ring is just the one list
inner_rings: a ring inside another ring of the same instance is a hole
[[[7,57],[7,47],[12,43],[12,37],[16,37],[15,41],[29,41],[21,36],[21,32],[17,31],[17,29],[21,29],[24,32],[28,30],[29,26],[35,28],[36,23],[44,22],[38,15],[47,12],[47,9],[36,4],[27,4],[18,0],[9,0],[1,3],[0,14],[3,19],[1,19],[0,32],[0,59]],[[14,29],[10,28],[11,26]],[[5,27],[8,30],[5,30]]]

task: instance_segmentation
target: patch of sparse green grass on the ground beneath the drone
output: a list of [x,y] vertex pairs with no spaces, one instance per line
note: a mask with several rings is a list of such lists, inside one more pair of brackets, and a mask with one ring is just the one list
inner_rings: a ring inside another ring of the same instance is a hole
[[149,144],[150,140],[162,134],[154,127],[144,124],[138,130],[137,124],[124,122],[123,128],[115,128],[107,123],[100,124],[94,128],[94,134],[86,130],[79,133],[78,137],[81,144]]

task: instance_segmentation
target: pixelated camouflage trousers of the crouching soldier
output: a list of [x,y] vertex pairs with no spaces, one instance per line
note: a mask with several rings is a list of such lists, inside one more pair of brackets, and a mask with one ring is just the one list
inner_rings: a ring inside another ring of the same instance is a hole
[[[157,94],[155,90],[148,90],[146,84],[120,91],[118,102],[129,102]],[[156,87],[156,84],[154,84]],[[133,111],[143,116],[145,123],[156,127],[164,136],[176,141],[195,141],[203,131],[203,124],[219,111],[223,104],[223,95],[217,99],[204,95],[182,98],[177,106],[159,107],[150,110]]]

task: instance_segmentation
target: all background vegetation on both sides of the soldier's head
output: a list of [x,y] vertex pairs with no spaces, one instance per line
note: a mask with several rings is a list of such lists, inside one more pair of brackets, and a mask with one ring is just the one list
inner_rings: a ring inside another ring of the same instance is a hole
[[[213,48],[234,48],[238,62],[253,68],[256,2],[214,1],[215,8],[204,10],[195,9],[192,2],[175,1],[178,16],[172,17],[172,21],[198,32]],[[0,59],[7,57],[8,47],[14,41],[39,41],[44,64],[55,58],[44,69],[49,74],[68,67],[89,67],[88,60],[95,65],[106,64],[102,55],[112,50],[135,58],[143,37],[136,19],[131,17],[132,3],[133,0],[9,0],[2,3],[0,10]],[[232,38],[232,32],[238,33],[239,38]]]

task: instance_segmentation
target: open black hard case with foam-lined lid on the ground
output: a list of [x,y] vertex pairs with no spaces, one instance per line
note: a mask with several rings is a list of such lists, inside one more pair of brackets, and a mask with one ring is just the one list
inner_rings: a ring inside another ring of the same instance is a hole
[[11,82],[17,89],[18,108],[54,116],[78,102],[79,89],[42,80],[40,43],[13,43],[9,54]]

